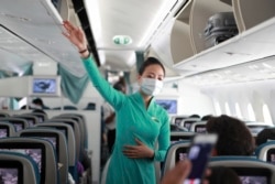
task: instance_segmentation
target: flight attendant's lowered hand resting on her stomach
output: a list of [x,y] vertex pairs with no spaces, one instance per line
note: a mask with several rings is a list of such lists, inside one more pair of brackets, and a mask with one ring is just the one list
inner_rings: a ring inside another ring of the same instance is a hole
[[138,145],[124,145],[123,154],[131,159],[144,159],[153,158],[154,151],[147,148],[142,141],[138,138],[135,139]]

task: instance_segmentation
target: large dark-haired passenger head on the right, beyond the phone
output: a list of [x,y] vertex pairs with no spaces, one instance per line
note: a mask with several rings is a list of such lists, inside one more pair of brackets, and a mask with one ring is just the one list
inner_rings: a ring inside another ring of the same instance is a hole
[[252,155],[254,139],[243,121],[222,115],[207,121],[207,131],[218,134],[218,155]]

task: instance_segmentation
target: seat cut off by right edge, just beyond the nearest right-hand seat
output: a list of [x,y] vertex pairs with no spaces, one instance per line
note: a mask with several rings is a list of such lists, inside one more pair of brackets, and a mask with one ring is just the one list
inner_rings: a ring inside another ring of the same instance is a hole
[[258,160],[275,164],[275,140],[267,141],[256,147],[255,155]]

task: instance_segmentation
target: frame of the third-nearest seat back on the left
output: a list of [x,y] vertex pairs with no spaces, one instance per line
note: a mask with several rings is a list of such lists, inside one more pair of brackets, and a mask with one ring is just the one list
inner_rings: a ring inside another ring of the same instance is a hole
[[50,140],[57,153],[61,183],[68,182],[68,149],[67,140],[63,132],[54,128],[35,127],[18,132],[19,137],[34,137]]

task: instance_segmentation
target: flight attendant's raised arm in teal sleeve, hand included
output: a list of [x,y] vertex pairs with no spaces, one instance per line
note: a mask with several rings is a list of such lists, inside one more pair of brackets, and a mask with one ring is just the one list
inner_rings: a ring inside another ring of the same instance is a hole
[[63,32],[63,34],[78,48],[84,66],[92,80],[94,86],[98,89],[101,96],[114,107],[114,109],[119,109],[123,104],[124,95],[113,89],[98,71],[98,67],[87,48],[87,41],[84,31],[80,28],[73,25],[69,21],[64,21],[64,29],[66,32]]

